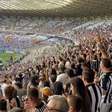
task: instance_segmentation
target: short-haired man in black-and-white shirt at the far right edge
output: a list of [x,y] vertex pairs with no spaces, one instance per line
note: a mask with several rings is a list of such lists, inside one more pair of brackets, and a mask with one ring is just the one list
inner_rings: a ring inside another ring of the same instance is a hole
[[112,65],[109,59],[102,59],[100,63],[100,85],[103,89],[102,112],[109,112],[112,107]]

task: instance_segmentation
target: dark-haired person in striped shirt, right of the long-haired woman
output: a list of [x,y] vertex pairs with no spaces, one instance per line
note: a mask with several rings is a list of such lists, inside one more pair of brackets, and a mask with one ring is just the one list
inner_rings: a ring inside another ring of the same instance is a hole
[[82,77],[88,88],[88,94],[92,104],[92,112],[98,112],[100,111],[102,90],[99,85],[94,83],[95,72],[92,70],[84,71]]

